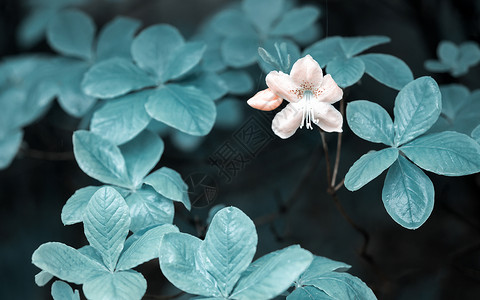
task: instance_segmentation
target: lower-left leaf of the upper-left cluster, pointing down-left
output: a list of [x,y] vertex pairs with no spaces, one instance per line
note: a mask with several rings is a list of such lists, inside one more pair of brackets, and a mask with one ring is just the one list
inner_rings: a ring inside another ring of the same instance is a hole
[[93,114],[90,130],[115,145],[130,141],[152,119],[145,110],[151,93],[151,90],[145,90],[106,101]]

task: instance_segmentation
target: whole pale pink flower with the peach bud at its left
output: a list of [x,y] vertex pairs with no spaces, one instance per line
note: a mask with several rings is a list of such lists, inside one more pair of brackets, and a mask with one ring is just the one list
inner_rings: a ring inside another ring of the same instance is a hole
[[268,89],[258,92],[248,104],[270,111],[282,99],[290,102],[272,122],[273,132],[286,139],[298,128],[313,129],[312,123],[326,132],[342,132],[342,114],[332,106],[343,97],[343,91],[330,74],[323,76],[319,64],[307,55],[295,62],[290,75],[272,71],[265,78]]

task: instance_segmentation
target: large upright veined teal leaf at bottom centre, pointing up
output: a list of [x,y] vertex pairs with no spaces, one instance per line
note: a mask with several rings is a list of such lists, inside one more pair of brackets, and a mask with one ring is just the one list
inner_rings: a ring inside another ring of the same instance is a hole
[[257,232],[252,220],[241,210],[227,207],[215,214],[199,256],[217,288],[228,297],[257,250]]

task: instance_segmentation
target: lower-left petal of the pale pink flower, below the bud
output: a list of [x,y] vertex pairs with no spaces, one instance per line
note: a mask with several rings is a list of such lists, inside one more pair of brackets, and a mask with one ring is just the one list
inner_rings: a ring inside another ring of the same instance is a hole
[[302,110],[296,109],[293,104],[288,104],[273,118],[272,130],[282,139],[291,137],[302,122]]

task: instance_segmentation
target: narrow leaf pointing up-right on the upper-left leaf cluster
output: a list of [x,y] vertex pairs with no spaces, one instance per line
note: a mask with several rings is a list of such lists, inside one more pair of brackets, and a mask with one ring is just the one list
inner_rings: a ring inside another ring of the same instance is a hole
[[179,78],[193,69],[202,59],[205,49],[205,43],[189,42],[175,50],[166,66],[163,81]]

